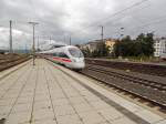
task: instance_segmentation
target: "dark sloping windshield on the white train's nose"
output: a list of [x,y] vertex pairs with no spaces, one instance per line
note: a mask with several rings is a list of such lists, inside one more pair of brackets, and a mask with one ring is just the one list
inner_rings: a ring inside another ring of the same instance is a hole
[[83,53],[82,53],[79,49],[70,48],[70,49],[69,49],[69,52],[70,52],[71,55],[74,56],[74,58],[83,58]]

